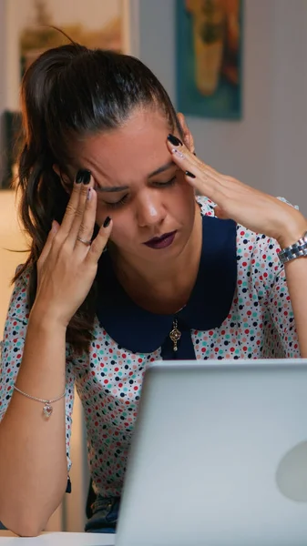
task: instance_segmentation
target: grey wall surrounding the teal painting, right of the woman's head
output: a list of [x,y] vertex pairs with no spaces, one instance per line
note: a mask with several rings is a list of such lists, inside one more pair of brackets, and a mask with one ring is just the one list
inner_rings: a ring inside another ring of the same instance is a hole
[[[295,7],[295,9],[294,9]],[[140,0],[139,54],[175,99],[175,0]],[[307,2],[245,0],[243,118],[189,117],[198,155],[307,213]]]

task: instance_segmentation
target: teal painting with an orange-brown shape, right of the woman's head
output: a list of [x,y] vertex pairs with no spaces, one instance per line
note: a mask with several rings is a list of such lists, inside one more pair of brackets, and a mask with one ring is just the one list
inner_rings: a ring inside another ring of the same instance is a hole
[[243,0],[177,0],[177,108],[240,119]]

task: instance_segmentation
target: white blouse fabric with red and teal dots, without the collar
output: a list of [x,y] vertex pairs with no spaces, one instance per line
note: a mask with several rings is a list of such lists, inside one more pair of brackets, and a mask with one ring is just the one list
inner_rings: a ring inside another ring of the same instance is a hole
[[[212,203],[198,197],[203,215]],[[226,319],[214,329],[192,329],[196,359],[299,358],[298,339],[279,246],[271,238],[237,226],[237,287]],[[19,278],[5,323],[0,369],[0,420],[13,393],[26,337],[28,275]],[[206,301],[203,302],[206,313]],[[129,328],[129,324],[127,326]],[[67,460],[74,384],[87,421],[87,444],[94,489],[103,497],[120,496],[128,447],[148,363],[160,348],[131,352],[118,346],[99,324],[88,355],[74,358],[67,346]],[[218,364],[218,362],[217,362]]]

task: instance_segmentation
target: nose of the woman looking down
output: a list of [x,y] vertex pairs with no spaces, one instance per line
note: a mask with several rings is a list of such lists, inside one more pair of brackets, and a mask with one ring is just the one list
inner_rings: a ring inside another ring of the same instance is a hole
[[155,191],[146,191],[138,196],[137,220],[139,227],[157,226],[166,217],[166,210],[161,201],[161,195]]

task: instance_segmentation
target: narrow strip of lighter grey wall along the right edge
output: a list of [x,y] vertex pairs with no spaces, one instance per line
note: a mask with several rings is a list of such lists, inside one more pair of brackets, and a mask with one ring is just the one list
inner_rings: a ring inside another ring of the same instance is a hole
[[[307,213],[307,2],[275,0],[274,187]],[[293,9],[295,6],[295,9]]]

